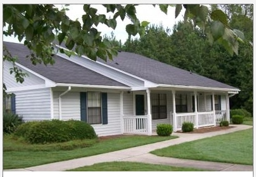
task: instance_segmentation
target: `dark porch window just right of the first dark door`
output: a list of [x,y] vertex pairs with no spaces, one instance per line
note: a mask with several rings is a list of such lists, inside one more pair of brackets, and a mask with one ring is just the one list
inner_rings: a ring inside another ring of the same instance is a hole
[[166,94],[151,94],[152,119],[167,119]]

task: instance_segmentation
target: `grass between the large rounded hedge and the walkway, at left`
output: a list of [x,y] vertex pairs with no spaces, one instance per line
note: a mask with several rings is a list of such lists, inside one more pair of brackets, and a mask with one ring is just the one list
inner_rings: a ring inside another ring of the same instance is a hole
[[[89,157],[101,153],[113,152],[125,148],[170,140],[172,138],[177,137],[130,135],[117,138],[99,139],[98,141],[83,140],[79,142],[82,148],[77,148],[76,141],[67,142],[66,145],[63,143],[54,143],[50,145],[31,145],[24,142],[24,140],[14,139],[11,136],[4,135],[3,168],[26,168],[29,166],[37,166],[56,161]],[[69,143],[71,145],[69,145]],[[72,150],[61,150],[63,147],[65,149],[67,147],[71,148],[72,146],[76,148]]]

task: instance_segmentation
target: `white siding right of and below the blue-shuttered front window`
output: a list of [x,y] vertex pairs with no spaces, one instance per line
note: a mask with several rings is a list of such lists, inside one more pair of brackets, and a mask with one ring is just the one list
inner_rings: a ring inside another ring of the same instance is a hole
[[121,134],[121,106],[120,93],[107,93],[107,119],[106,125],[92,125],[98,136]]

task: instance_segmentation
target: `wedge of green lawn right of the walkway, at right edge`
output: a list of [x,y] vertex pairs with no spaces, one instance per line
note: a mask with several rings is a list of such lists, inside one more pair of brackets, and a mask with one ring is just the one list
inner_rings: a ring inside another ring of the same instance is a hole
[[253,130],[181,143],[151,152],[162,157],[253,164]]

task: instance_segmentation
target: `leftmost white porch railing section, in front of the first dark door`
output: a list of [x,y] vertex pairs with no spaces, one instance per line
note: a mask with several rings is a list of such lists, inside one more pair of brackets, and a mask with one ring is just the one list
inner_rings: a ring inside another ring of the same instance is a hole
[[147,134],[147,116],[124,116],[124,134]]

